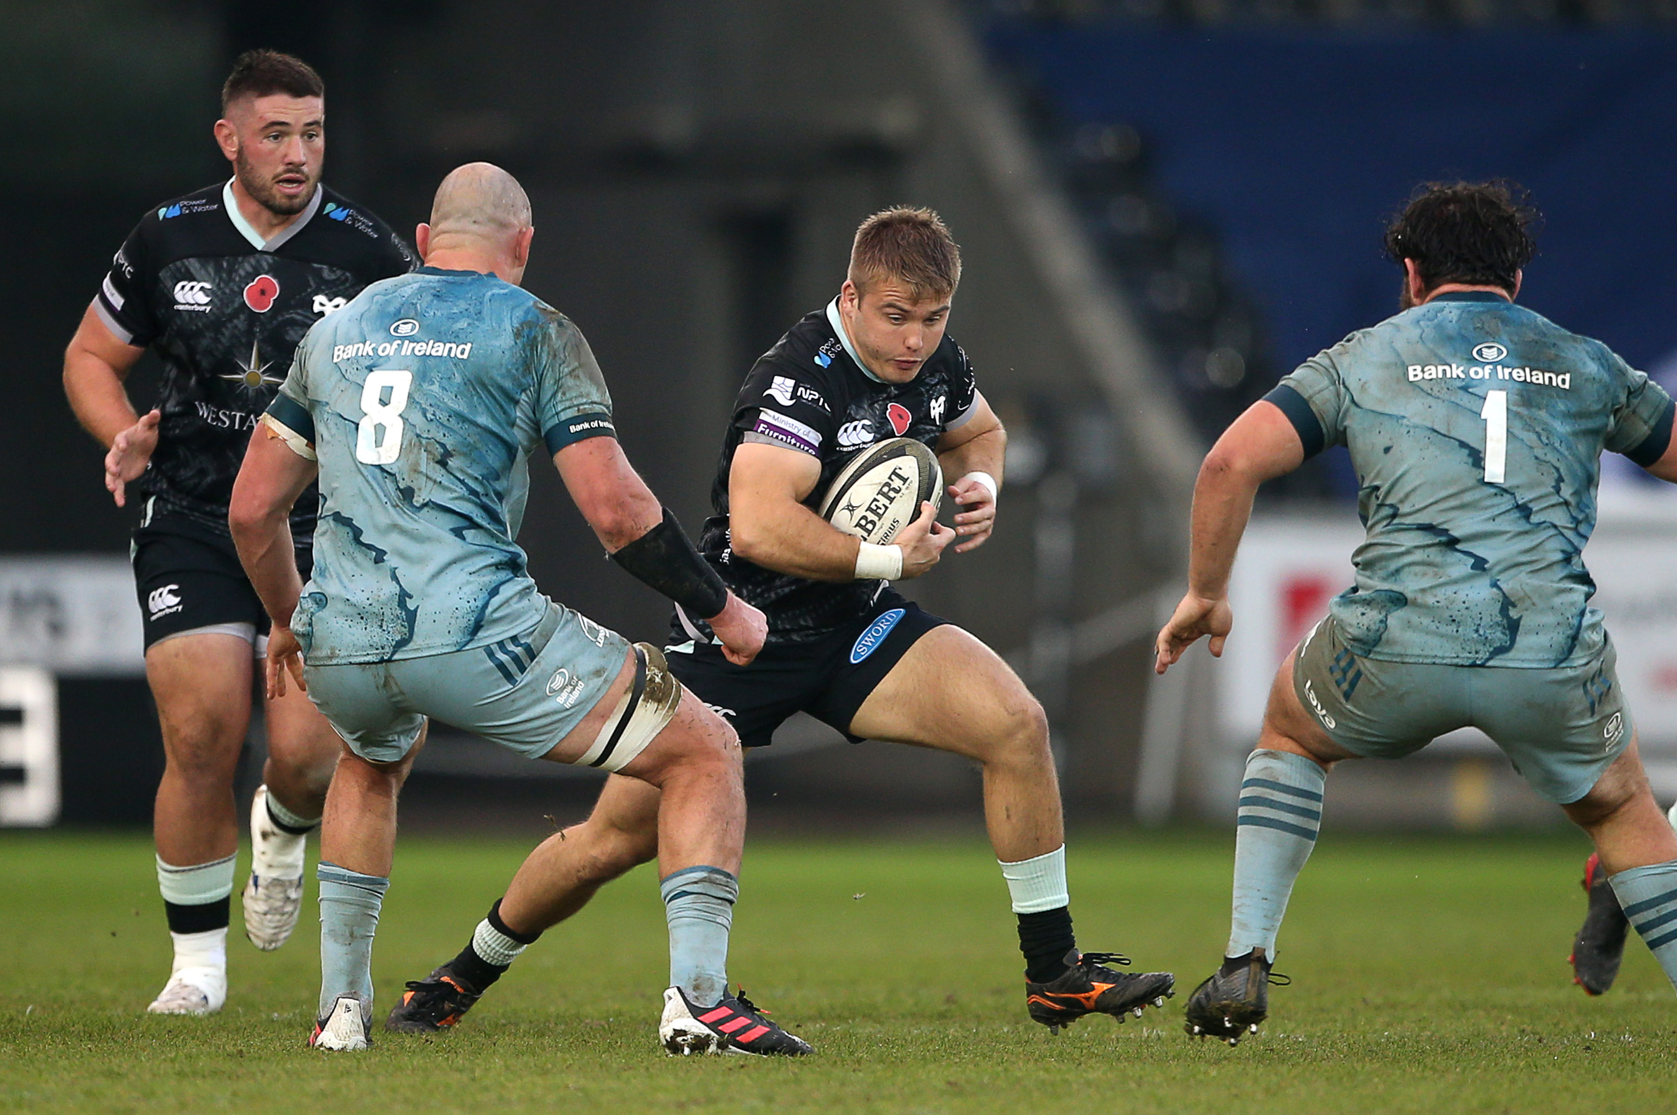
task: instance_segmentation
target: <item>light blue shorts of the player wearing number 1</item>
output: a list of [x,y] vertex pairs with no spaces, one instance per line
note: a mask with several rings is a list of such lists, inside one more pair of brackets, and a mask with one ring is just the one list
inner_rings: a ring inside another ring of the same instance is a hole
[[1477,728],[1541,798],[1568,805],[1630,744],[1617,662],[1612,640],[1555,669],[1387,662],[1353,654],[1330,615],[1298,646],[1293,692],[1333,743],[1370,760]]

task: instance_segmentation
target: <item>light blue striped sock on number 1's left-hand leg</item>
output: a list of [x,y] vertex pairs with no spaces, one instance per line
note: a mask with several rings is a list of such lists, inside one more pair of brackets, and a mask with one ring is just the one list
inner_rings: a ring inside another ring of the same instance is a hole
[[1224,956],[1263,949],[1275,956],[1293,880],[1305,870],[1321,828],[1328,773],[1290,751],[1253,751],[1241,781],[1234,830],[1234,919]]

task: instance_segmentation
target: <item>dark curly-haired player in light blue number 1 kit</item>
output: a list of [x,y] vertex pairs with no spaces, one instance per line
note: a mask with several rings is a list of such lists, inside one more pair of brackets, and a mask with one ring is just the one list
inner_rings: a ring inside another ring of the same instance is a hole
[[1595,843],[1625,917],[1677,983],[1677,833],[1637,753],[1583,548],[1603,451],[1677,483],[1672,399],[1607,345],[1514,303],[1534,213],[1498,183],[1424,188],[1390,225],[1402,312],[1311,357],[1223,434],[1194,490],[1187,595],[1164,672],[1221,654],[1258,486],[1343,444],[1368,538],[1357,582],[1276,674],[1246,761],[1221,967],[1191,1035],[1268,1016],[1275,941],[1315,847],[1328,770],[1484,731]]

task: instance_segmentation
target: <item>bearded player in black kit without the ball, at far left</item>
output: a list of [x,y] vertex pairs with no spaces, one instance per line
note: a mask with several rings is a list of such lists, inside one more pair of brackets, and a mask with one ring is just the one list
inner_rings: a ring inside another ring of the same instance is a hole
[[[268,617],[238,565],[226,513],[258,416],[310,325],[362,287],[408,272],[389,228],[320,184],[325,87],[304,62],[252,50],[221,89],[215,124],[233,178],[148,213],[122,243],[64,355],[75,417],[109,451],[117,506],[144,493],[134,587],[146,679],[163,726],[154,833],[158,889],[174,942],[158,1014],[208,1014],[226,999],[226,929],[238,850],[233,773],[252,706],[252,657]],[[158,404],[122,387],[151,347]],[[319,500],[292,515],[307,577]],[[332,728],[302,694],[263,706],[268,761],[252,801],[245,934],[277,949],[297,924],[304,840],[337,763]]]

